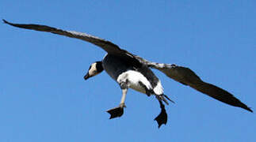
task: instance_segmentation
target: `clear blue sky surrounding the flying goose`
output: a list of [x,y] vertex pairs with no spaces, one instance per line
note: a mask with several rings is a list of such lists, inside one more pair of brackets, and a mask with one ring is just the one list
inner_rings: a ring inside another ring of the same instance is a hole
[[[1,1],[0,18],[87,32],[155,62],[193,69],[256,110],[256,2]],[[128,91],[124,115],[109,120],[121,92],[106,73],[83,80],[105,51],[90,43],[0,24],[0,141],[246,141],[256,116],[164,74],[169,119],[155,97]]]

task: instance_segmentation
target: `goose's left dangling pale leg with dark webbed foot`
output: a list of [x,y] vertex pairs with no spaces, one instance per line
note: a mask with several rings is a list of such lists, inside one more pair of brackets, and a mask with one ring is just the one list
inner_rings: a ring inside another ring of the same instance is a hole
[[128,88],[122,88],[122,98],[119,106],[114,107],[113,109],[107,110],[107,112],[110,114],[109,119],[121,117],[124,114],[124,107],[126,107],[124,105],[124,101],[125,101],[127,91],[128,91]]

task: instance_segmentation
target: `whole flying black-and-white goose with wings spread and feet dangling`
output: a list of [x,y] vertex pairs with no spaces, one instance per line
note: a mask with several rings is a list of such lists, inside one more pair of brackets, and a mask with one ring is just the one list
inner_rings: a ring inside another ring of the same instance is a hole
[[86,76],[87,80],[90,77],[96,76],[103,70],[109,74],[120,85],[122,90],[122,97],[120,105],[113,109],[107,110],[111,118],[117,118],[124,114],[124,101],[128,88],[132,88],[138,92],[142,92],[148,96],[155,95],[158,99],[161,112],[155,120],[158,122],[159,127],[162,124],[166,125],[167,114],[165,106],[162,101],[168,104],[170,100],[167,95],[163,94],[162,84],[158,77],[151,71],[150,68],[158,69],[162,73],[165,73],[167,77],[170,77],[181,84],[189,85],[191,88],[196,89],[210,97],[217,99],[223,103],[227,103],[234,107],[241,107],[245,110],[253,112],[249,107],[242,103],[239,99],[236,99],[234,95],[225,91],[222,88],[216,87],[213,84],[208,84],[201,80],[191,69],[182,67],[179,65],[162,64],[156,62],[150,62],[146,59],[140,58],[135,54],[129,53],[127,50],[120,49],[116,44],[109,42],[108,40],[91,36],[82,32],[64,31],[58,28],[52,28],[46,25],[40,24],[13,24],[3,20],[4,23],[10,24],[18,28],[27,28],[40,32],[52,32],[54,34],[68,36],[71,38],[82,39],[86,42],[93,43],[98,47],[101,47],[107,52],[102,61],[94,62],[90,65],[90,69]]

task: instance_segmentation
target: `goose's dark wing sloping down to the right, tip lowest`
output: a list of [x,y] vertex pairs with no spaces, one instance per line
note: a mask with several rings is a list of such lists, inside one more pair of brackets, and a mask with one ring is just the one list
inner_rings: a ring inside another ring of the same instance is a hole
[[241,107],[245,110],[253,112],[247,107],[244,103],[242,103],[239,99],[236,99],[234,95],[225,91],[222,88],[219,88],[213,84],[208,84],[201,80],[200,77],[197,76],[191,69],[185,68],[183,66],[178,65],[170,65],[170,64],[160,64],[156,62],[149,62],[139,56],[136,58],[146,64],[148,67],[159,69],[162,73],[165,73],[166,76],[180,82],[181,84],[189,85],[191,88],[196,89],[199,92],[202,92],[210,97],[217,99],[223,103],[227,103],[234,107]]

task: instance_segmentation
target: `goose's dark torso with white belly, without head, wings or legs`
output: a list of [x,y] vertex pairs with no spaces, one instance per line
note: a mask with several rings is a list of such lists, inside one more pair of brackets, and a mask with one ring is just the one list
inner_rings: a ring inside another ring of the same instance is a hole
[[131,62],[119,56],[107,54],[102,60],[102,66],[106,73],[118,84],[128,81],[129,88],[147,94],[150,90],[156,95],[163,94],[162,84],[155,73],[147,65],[133,65]]

